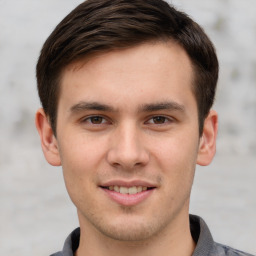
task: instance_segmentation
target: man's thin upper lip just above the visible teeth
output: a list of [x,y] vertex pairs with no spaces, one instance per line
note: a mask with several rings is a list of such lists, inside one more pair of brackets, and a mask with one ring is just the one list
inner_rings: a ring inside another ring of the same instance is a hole
[[148,181],[143,180],[132,180],[132,181],[125,181],[125,180],[111,180],[107,182],[103,182],[99,185],[100,187],[110,187],[110,186],[119,186],[119,187],[157,187],[155,183],[151,183]]

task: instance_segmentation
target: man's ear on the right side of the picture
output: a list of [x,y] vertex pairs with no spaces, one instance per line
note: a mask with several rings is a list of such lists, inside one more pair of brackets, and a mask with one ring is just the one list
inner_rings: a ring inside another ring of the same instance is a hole
[[209,165],[216,152],[216,138],[218,132],[218,114],[210,110],[204,121],[203,134],[200,138],[197,164]]

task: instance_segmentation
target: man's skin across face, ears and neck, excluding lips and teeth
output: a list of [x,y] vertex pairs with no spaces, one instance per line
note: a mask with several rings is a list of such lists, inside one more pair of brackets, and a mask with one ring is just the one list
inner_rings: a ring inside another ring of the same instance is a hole
[[[63,71],[57,138],[42,109],[36,126],[77,207],[76,255],[192,255],[195,166],[211,162],[217,134],[211,110],[199,137],[192,80],[190,59],[173,42],[111,51]],[[125,205],[102,189],[113,181],[154,189]]]

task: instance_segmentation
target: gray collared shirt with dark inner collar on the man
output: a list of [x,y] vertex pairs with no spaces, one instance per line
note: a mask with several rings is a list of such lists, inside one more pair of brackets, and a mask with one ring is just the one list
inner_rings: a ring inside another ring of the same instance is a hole
[[[196,248],[192,256],[253,256],[213,241],[210,230],[204,220],[190,215],[190,230]],[[63,250],[51,256],[73,256],[79,246],[80,228],[75,229],[66,239]]]

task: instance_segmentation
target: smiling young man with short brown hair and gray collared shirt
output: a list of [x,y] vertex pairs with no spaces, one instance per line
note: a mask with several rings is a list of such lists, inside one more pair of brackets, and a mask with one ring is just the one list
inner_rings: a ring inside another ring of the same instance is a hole
[[54,255],[248,255],[189,216],[215,154],[214,47],[162,0],[88,0],[45,42],[36,126],[80,228]]

